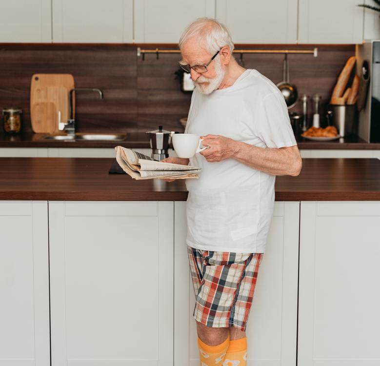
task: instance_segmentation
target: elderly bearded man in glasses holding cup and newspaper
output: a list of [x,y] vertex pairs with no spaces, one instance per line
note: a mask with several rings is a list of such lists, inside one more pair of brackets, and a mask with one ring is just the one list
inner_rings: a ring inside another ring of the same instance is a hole
[[202,168],[199,180],[186,181],[200,365],[243,366],[275,176],[297,176],[302,162],[279,89],[235,61],[223,24],[198,19],[179,45],[180,66],[196,85],[185,132],[200,135],[208,147],[190,159]]

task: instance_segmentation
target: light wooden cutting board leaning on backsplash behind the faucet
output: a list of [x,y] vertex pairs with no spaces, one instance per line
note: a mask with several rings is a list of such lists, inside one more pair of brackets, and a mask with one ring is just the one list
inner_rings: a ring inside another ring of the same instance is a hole
[[[60,122],[66,122],[69,91],[74,88],[70,74],[34,74],[30,84],[30,120],[35,133],[57,134]],[[73,103],[75,113],[75,105]]]

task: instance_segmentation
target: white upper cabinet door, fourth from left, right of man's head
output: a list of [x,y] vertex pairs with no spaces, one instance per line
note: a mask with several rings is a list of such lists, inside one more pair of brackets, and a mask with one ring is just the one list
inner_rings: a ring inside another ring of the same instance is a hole
[[235,43],[296,43],[297,0],[216,0]]

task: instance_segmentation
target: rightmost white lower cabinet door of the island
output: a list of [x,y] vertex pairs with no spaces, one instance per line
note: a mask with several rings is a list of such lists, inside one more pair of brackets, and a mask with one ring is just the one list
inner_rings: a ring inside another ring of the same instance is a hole
[[380,202],[302,202],[298,365],[380,365]]

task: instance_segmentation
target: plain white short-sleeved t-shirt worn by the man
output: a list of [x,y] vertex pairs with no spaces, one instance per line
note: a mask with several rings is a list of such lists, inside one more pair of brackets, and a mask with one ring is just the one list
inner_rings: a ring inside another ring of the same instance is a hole
[[[262,148],[296,145],[280,90],[256,70],[246,70],[225,89],[194,90],[186,133],[221,135]],[[275,176],[234,159],[209,163],[186,180],[187,244],[202,250],[263,253],[273,215]]]

